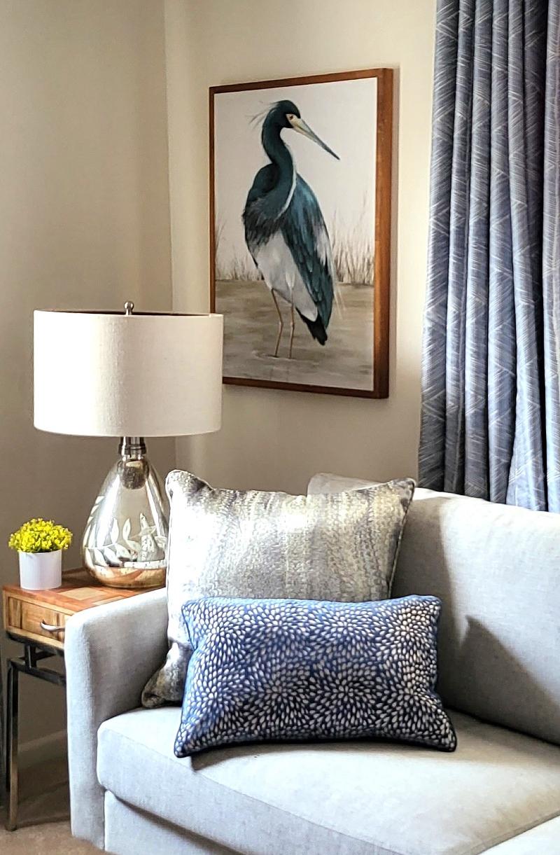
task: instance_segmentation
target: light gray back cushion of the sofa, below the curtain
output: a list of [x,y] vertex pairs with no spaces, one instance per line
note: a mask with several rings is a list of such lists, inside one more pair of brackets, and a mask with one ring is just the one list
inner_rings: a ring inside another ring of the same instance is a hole
[[560,744],[560,515],[417,489],[392,596],[412,593],[443,602],[445,704]]

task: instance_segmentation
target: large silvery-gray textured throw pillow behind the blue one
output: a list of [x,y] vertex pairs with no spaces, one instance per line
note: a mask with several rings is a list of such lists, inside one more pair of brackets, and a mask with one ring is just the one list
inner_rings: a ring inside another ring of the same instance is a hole
[[213,489],[170,472],[168,637],[144,706],[180,704],[191,655],[181,607],[195,597],[386,599],[414,481],[333,495]]

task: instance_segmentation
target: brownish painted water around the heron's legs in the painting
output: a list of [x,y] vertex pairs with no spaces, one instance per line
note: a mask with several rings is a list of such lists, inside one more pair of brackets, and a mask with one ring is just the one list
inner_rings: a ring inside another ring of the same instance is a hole
[[284,332],[275,358],[278,315],[262,280],[217,280],[215,293],[215,310],[224,315],[226,377],[345,389],[373,388],[373,286],[337,286],[324,347],[311,337],[296,313],[292,359],[287,358],[290,307],[279,301]]

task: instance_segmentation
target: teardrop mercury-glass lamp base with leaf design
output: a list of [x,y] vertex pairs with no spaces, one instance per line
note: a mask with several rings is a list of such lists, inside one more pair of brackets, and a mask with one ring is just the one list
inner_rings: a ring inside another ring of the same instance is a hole
[[110,587],[161,587],[167,570],[168,501],[142,437],[123,437],[91,509],[84,566]]

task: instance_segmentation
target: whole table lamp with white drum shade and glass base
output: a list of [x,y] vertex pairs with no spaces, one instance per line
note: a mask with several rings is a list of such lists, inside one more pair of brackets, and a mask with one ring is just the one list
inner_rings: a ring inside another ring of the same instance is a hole
[[34,424],[121,437],[85,526],[83,561],[104,585],[148,588],[165,579],[168,502],[144,437],[219,430],[223,318],[133,308],[34,313]]

